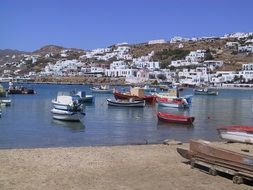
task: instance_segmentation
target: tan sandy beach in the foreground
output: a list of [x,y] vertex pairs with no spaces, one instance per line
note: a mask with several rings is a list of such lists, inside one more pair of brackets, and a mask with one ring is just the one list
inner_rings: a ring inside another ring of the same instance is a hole
[[[37,148],[0,150],[0,189],[246,190],[229,178],[211,176],[177,152],[183,145]],[[252,154],[252,145],[219,146]]]

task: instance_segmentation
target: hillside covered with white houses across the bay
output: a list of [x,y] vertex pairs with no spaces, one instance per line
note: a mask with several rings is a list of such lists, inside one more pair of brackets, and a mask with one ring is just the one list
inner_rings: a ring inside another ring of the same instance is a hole
[[0,81],[56,78],[193,86],[253,83],[253,32],[120,43],[90,51],[53,45],[34,52],[0,50]]

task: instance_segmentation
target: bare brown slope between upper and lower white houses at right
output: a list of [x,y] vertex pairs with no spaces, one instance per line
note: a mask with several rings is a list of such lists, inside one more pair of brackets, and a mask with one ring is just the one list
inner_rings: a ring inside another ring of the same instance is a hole
[[[253,62],[252,53],[237,53],[235,49],[225,48],[226,43],[230,41],[242,43],[242,41],[237,39],[211,39],[183,43],[136,44],[131,46],[131,54],[134,57],[140,57],[154,51],[153,59],[160,61],[164,68],[170,65],[171,60],[184,59],[190,51],[198,49],[208,50],[211,59],[223,60],[224,66],[219,68],[219,70],[238,70],[241,69],[242,64]],[[179,48],[180,44],[183,45],[182,48]]]

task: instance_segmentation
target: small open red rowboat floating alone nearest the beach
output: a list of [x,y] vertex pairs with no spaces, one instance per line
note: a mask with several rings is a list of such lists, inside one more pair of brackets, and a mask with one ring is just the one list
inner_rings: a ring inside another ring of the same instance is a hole
[[165,112],[157,112],[157,117],[161,121],[165,121],[168,123],[180,123],[180,124],[192,124],[194,122],[195,117],[192,116],[182,116],[175,115]]

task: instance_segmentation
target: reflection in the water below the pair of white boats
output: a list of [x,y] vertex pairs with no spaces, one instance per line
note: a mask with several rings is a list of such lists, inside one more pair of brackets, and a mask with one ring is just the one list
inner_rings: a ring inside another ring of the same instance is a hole
[[52,119],[52,125],[55,127],[64,127],[71,132],[84,132],[85,131],[85,125],[82,122],[66,122],[61,120],[55,120]]

